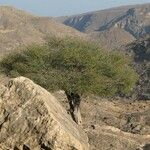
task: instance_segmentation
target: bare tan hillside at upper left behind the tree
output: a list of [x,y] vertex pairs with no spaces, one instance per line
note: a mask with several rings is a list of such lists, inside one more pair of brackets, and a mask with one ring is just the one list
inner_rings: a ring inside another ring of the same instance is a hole
[[0,57],[17,47],[42,43],[47,35],[86,37],[52,18],[33,16],[12,7],[0,7]]

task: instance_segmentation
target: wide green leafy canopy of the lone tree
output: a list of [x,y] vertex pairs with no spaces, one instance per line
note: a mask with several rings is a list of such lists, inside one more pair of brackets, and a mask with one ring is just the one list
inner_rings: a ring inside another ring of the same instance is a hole
[[49,38],[43,46],[11,54],[2,60],[1,68],[11,77],[28,77],[48,90],[79,94],[128,94],[137,81],[124,54],[69,38]]

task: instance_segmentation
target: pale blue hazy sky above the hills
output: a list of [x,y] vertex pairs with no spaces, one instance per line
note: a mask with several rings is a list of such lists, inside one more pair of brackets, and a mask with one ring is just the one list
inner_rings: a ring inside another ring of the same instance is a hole
[[41,16],[72,15],[141,3],[150,3],[150,0],[0,0],[0,5],[15,6]]

